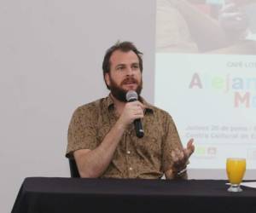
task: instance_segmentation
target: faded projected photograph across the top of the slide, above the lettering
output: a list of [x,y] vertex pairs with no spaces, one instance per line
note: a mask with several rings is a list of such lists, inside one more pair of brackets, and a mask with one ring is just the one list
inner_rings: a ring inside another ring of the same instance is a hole
[[157,0],[156,51],[256,54],[255,0]]

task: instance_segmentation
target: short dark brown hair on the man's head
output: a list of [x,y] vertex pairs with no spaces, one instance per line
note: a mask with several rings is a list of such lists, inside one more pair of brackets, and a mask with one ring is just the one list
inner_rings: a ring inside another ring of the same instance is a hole
[[[116,51],[116,50],[120,50],[120,51],[125,52],[125,53],[129,52],[129,51],[133,51],[138,57],[140,70],[141,70],[141,72],[143,72],[143,58],[142,58],[143,53],[140,52],[137,49],[137,47],[131,42],[121,42],[121,43],[117,42],[111,48],[109,48],[106,51],[106,54],[104,56],[103,63],[102,63],[102,70],[103,70],[104,80],[105,80],[105,74],[110,72],[110,66],[111,66],[110,65],[110,57],[113,54],[113,52]],[[105,80],[105,83],[106,83],[106,80]],[[107,83],[106,83],[106,86],[109,89]]]

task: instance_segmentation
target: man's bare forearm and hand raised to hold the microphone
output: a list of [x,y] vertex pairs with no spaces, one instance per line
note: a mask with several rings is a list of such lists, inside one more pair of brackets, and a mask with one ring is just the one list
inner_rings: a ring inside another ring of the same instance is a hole
[[108,168],[126,127],[137,118],[143,118],[143,104],[139,101],[125,104],[119,120],[105,135],[98,147],[93,150],[80,149],[73,153],[81,177],[99,177],[102,175]]

